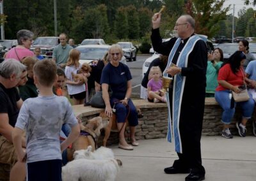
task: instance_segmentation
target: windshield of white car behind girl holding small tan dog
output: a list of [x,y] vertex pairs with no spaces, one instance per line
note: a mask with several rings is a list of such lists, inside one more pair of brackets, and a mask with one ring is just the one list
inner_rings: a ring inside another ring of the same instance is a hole
[[102,59],[104,57],[104,54],[108,52],[108,48],[77,47],[76,49],[81,52],[80,59],[88,60]]

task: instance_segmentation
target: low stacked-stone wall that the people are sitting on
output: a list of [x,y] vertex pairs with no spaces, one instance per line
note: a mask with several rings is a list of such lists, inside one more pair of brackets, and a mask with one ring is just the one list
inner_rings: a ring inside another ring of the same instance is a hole
[[[141,101],[141,100],[138,100]],[[147,102],[146,102],[147,103]],[[136,101],[134,101],[136,105]],[[136,127],[136,139],[154,139],[154,138],[166,138],[167,126],[168,126],[168,113],[167,106],[163,103],[147,103],[147,106],[140,105],[141,112],[144,117],[139,120],[139,125]],[[223,124],[221,123],[222,109],[218,103],[216,103],[214,98],[205,99],[205,110],[204,110],[204,121],[202,134],[207,136],[220,135]],[[86,121],[92,117],[99,115],[95,113],[94,115],[87,115],[83,117],[83,121]],[[253,118],[254,120],[254,118]],[[230,124],[230,131],[234,135],[238,135],[236,122],[241,121],[241,109],[236,109],[236,114],[234,119]],[[247,135],[252,135],[252,120],[247,123]],[[104,132],[104,131],[103,131]],[[129,133],[129,127],[127,127],[127,133]],[[99,138],[98,144],[102,144],[102,138],[104,133]],[[113,143],[118,143],[118,133],[111,132],[108,145]]]

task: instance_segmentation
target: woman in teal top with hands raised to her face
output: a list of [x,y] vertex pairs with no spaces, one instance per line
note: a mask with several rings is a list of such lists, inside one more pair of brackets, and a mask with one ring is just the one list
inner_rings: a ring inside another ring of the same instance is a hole
[[214,98],[215,89],[218,86],[217,76],[222,63],[223,51],[220,48],[215,48],[212,54],[208,54],[205,92],[207,98]]

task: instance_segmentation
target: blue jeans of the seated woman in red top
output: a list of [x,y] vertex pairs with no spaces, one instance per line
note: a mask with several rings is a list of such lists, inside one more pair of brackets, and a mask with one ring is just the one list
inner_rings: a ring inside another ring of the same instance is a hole
[[215,99],[220,104],[221,108],[223,108],[221,122],[223,122],[224,124],[230,124],[236,111],[235,109],[236,105],[239,105],[242,108],[243,117],[246,119],[250,119],[252,117],[252,113],[254,110],[254,101],[252,99],[252,95],[249,93],[250,99],[248,101],[243,101],[239,103],[235,102],[234,108],[230,108],[230,105],[231,105],[230,94],[232,93],[229,90],[215,92]]

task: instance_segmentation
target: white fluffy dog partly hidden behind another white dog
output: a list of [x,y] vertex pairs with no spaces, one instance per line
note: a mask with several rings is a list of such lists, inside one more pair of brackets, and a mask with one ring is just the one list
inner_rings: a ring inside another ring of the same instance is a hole
[[86,150],[77,150],[74,152],[74,159],[109,159],[115,158],[110,148],[100,147],[92,152],[92,146],[88,146]]

